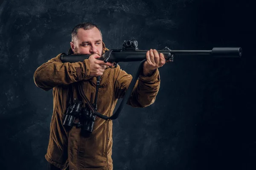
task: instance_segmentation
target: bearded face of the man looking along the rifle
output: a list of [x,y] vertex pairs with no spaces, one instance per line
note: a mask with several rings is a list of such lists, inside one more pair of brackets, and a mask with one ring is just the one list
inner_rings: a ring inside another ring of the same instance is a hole
[[98,28],[88,30],[79,28],[74,42],[70,42],[74,54],[98,54],[102,55],[102,36]]

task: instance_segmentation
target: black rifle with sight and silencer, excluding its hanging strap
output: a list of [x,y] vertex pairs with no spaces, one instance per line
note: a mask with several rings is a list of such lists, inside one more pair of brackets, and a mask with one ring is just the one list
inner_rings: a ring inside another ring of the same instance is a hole
[[[132,62],[132,61],[142,61],[146,59],[147,50],[139,50],[137,48],[138,42],[136,40],[126,40],[123,43],[122,49],[113,49],[106,51],[99,60],[106,62]],[[170,50],[165,47],[163,50],[157,51],[158,53],[163,53],[166,62],[172,62],[174,54],[204,54],[212,55],[213,57],[241,57],[242,48],[240,47],[218,47],[212,48],[212,50]],[[62,62],[83,62],[84,59],[88,59],[90,55],[61,55]],[[116,67],[115,66],[115,67]]]

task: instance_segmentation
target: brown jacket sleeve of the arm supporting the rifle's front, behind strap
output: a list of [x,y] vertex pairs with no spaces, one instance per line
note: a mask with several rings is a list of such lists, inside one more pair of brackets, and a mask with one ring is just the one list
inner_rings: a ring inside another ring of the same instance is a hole
[[[119,99],[125,95],[131,83],[132,76],[120,69],[120,67],[117,67],[115,78],[115,97]],[[159,88],[160,74],[158,69],[154,71],[151,77],[145,77],[141,73],[127,104],[136,108],[144,108],[151,105],[155,101]]]

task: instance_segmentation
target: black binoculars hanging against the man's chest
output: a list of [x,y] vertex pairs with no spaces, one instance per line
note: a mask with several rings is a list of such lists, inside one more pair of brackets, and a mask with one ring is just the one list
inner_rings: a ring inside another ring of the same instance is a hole
[[[79,118],[80,122],[75,123],[75,118]],[[92,114],[92,111],[89,109],[88,105],[86,104],[86,107],[83,109],[82,102],[76,100],[73,105],[70,105],[67,108],[63,125],[68,128],[76,125],[77,127],[81,127],[82,131],[92,133],[95,119],[96,116]]]

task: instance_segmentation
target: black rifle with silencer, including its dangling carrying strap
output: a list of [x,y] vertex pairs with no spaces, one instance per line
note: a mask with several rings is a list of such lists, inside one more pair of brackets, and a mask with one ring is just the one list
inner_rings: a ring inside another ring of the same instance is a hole
[[[140,70],[143,68],[143,63],[146,60],[146,52],[147,50],[139,50],[137,48],[138,42],[136,40],[125,40],[123,42],[123,48],[122,49],[113,49],[110,51],[106,51],[99,60],[103,60],[106,62],[113,62],[116,63],[113,68],[116,68],[118,62],[132,62],[132,61],[141,61],[140,65],[135,71],[134,76],[131,80],[131,83],[125,93],[125,96],[123,97],[123,100],[121,104],[119,105],[119,108],[116,110],[116,112],[111,116],[105,116],[102,115],[95,110],[93,110],[93,114],[105,119],[105,120],[114,120],[117,119],[120,114],[122,113],[122,110],[125,106],[125,104],[128,101],[128,98],[131,95],[131,92],[134,88],[134,85],[139,77]],[[163,50],[157,51],[158,53],[163,53],[166,62],[173,62],[174,54],[204,54],[204,55],[212,55],[213,57],[241,57],[242,56],[242,49],[240,47],[218,47],[218,48],[212,48],[212,50],[170,50],[168,47],[164,48]],[[67,54],[61,54],[61,61],[62,62],[83,62],[84,59],[88,59],[90,55],[67,55]],[[84,94],[81,89],[79,89],[82,94]],[[84,98],[84,96],[82,95]]]

